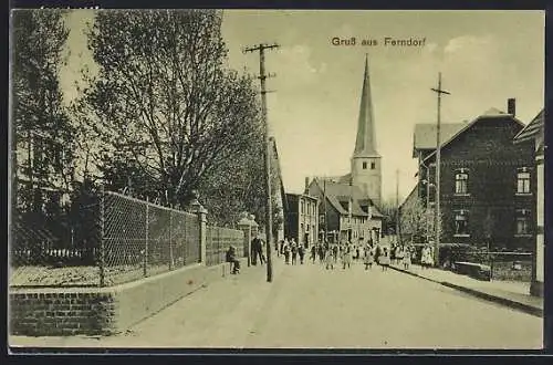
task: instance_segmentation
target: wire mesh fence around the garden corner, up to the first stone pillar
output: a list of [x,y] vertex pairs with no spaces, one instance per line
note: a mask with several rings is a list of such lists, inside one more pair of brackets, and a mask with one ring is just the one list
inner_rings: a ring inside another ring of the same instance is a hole
[[200,246],[197,215],[112,191],[86,191],[55,215],[12,209],[9,284],[129,282],[200,262]]

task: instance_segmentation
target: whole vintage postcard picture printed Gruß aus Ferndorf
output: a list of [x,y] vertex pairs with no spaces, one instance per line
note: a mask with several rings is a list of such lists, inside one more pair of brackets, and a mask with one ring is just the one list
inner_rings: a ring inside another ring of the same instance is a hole
[[544,17],[13,10],[12,351],[543,348]]

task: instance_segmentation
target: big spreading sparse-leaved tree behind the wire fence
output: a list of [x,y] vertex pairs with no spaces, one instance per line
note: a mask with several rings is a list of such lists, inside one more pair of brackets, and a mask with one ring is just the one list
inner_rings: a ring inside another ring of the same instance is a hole
[[143,192],[164,205],[186,206],[259,137],[253,80],[225,67],[220,27],[213,10],[109,11],[88,33],[98,74],[81,103],[96,159],[154,184]]

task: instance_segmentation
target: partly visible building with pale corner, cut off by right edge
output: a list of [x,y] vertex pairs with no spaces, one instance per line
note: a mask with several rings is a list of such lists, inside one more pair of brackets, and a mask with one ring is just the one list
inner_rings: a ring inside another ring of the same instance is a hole
[[530,122],[515,137],[514,143],[534,143],[535,164],[533,166],[536,176],[536,199],[535,199],[535,244],[534,262],[532,272],[532,284],[530,293],[543,296],[543,280],[545,271],[545,238],[544,238],[544,124],[545,116],[542,109],[535,118]]

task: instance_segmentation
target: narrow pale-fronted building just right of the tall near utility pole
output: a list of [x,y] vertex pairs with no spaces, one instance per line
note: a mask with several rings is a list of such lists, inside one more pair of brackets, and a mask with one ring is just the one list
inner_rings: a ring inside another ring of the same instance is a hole
[[306,194],[286,194],[284,236],[309,248],[319,240],[319,199]]

